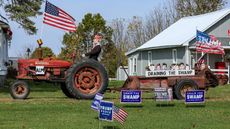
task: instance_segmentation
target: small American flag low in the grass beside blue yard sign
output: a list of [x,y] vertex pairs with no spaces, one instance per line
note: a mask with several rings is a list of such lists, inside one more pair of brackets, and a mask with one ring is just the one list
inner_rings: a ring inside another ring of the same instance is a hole
[[124,124],[127,117],[128,117],[128,113],[125,110],[113,106],[113,118],[115,120],[117,120],[121,124]]

